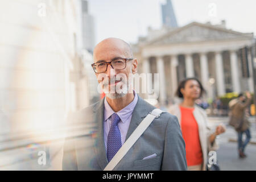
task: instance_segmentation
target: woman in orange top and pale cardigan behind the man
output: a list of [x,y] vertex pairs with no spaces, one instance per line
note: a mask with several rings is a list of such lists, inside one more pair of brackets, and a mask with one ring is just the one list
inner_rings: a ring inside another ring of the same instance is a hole
[[208,152],[218,149],[216,136],[225,132],[225,127],[219,125],[214,133],[210,133],[207,114],[195,103],[204,92],[197,78],[187,78],[180,82],[176,92],[183,101],[170,107],[170,113],[176,115],[181,126],[188,170],[207,169]]

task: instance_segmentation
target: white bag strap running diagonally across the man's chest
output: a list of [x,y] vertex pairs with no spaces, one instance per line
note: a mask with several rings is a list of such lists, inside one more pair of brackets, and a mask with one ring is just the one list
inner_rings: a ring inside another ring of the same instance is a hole
[[117,151],[112,160],[105,167],[104,171],[112,171],[119,161],[125,156],[125,154],[130,150],[131,146],[138,140],[147,127],[155,118],[159,118],[163,111],[160,109],[152,110],[139,124],[139,126],[133,131],[130,137],[123,143],[123,146]]

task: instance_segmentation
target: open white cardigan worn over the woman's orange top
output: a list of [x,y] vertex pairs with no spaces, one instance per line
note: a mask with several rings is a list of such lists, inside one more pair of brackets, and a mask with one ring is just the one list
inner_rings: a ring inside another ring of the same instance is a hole
[[[170,113],[176,115],[179,123],[181,122],[181,112],[179,104],[172,105],[170,107]],[[206,169],[208,152],[218,149],[218,144],[214,140],[213,144],[210,144],[210,127],[208,125],[208,118],[206,112],[199,106],[195,105],[195,110],[193,110],[193,115],[196,119],[199,128],[199,138],[201,143],[201,148],[203,152],[203,170]],[[181,127],[180,127],[181,128]]]

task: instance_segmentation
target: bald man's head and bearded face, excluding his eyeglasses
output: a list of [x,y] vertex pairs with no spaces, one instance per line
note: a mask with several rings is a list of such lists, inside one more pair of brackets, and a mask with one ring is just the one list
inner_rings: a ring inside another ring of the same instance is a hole
[[[129,52],[129,47],[120,40],[107,40],[99,43],[94,49],[94,63],[98,61],[110,62],[117,58],[133,58]],[[135,73],[137,69],[137,60],[127,60],[126,68],[114,70],[111,65],[104,73],[96,73],[98,82],[106,97],[115,99],[123,97],[129,92],[130,84],[129,74]]]

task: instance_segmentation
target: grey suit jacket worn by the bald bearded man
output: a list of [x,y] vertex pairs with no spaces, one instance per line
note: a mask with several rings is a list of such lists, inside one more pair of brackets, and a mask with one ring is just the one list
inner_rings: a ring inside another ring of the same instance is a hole
[[[155,109],[141,97],[131,117],[126,140],[146,115]],[[65,139],[63,170],[103,170],[108,164],[103,133],[104,100],[69,117],[71,126],[90,125],[89,131]],[[94,125],[94,127],[92,126]],[[86,129],[84,129],[85,131]],[[70,134],[70,133],[69,133]],[[143,159],[154,155],[153,158]],[[114,170],[187,170],[185,143],[177,117],[162,113],[155,118]]]

